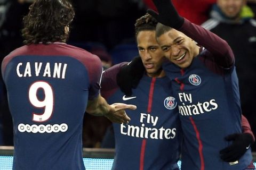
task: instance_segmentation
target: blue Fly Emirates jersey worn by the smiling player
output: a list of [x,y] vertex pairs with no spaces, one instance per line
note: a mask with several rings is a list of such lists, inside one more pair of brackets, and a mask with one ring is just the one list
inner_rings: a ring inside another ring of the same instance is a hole
[[[170,62],[163,65],[172,80],[184,133],[181,168],[245,169],[252,161],[250,149],[236,163],[223,162],[219,154],[231,145],[224,139],[227,135],[242,132],[233,53],[225,41],[188,20],[180,31],[207,47],[186,69]],[[225,69],[225,65],[230,67]]]

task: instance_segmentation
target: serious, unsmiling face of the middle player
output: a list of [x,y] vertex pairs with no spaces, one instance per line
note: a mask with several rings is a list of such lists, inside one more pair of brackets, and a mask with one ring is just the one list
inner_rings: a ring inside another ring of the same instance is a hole
[[149,77],[163,77],[164,54],[157,44],[155,31],[140,31],[137,35],[139,55]]

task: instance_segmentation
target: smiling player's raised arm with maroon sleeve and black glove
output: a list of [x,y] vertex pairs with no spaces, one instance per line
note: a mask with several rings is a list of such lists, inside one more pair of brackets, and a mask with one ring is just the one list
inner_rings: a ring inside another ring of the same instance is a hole
[[227,42],[203,27],[184,19],[175,10],[170,0],[153,0],[158,14],[153,10],[148,13],[153,15],[158,22],[185,33],[199,45],[205,47],[215,57],[218,65],[229,68],[234,65],[234,54]]

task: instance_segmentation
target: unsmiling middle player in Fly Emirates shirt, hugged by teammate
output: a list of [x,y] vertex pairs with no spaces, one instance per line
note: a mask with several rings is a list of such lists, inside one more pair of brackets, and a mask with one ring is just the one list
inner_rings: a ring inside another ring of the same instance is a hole
[[171,81],[162,69],[164,55],[155,39],[156,24],[149,14],[135,23],[135,37],[143,61],[140,64],[146,73],[132,96],[126,96],[116,83],[120,67],[127,63],[111,67],[102,76],[101,94],[109,103],[122,101],[137,105],[135,111],[127,111],[131,117],[129,124],[113,124],[113,169],[179,169],[182,133],[177,101],[170,90]]

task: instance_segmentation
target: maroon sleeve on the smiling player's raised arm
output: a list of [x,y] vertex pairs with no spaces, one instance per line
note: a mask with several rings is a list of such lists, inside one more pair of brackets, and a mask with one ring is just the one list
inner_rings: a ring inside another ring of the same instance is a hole
[[195,40],[199,45],[209,50],[213,54],[215,62],[221,67],[230,68],[235,64],[231,47],[225,40],[213,32],[191,23],[187,19],[185,19],[179,31],[185,33],[185,35]]

